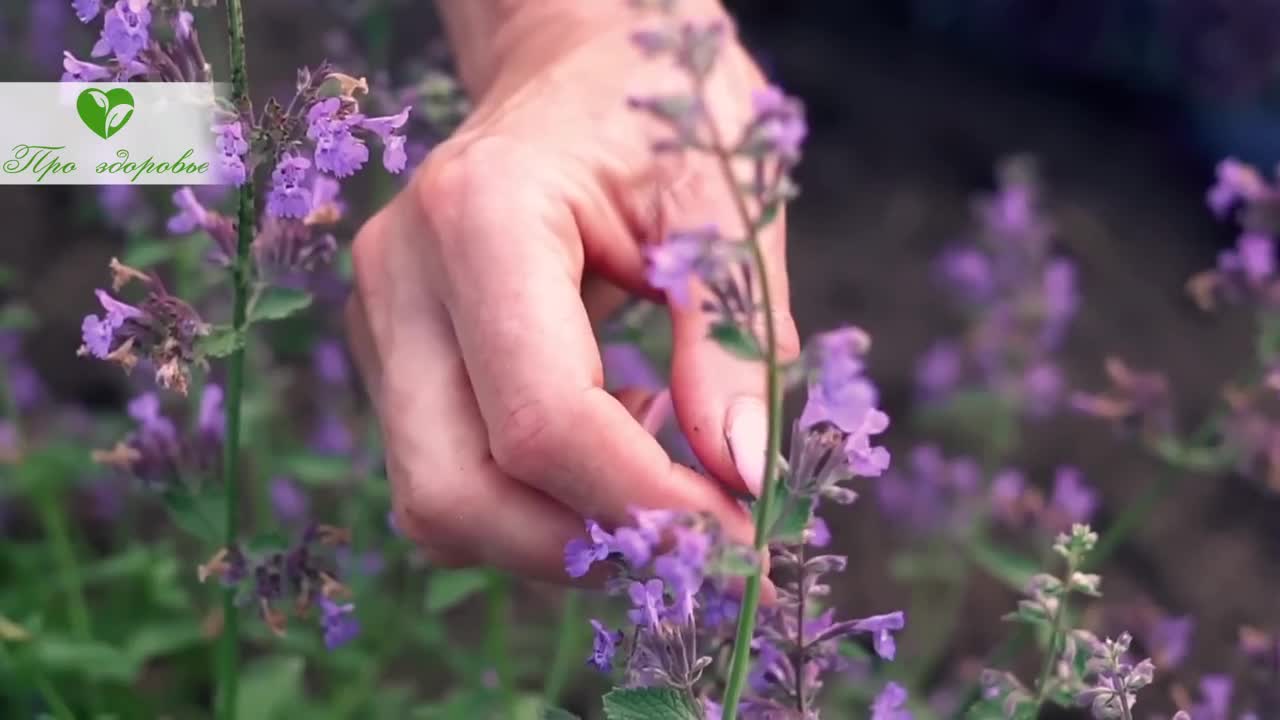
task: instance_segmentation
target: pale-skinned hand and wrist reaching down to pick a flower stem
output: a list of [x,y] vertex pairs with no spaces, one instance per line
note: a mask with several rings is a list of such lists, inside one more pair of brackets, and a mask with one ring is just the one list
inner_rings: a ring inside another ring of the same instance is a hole
[[[438,564],[553,582],[568,580],[584,518],[612,527],[631,507],[708,511],[750,541],[735,496],[760,486],[763,368],[709,341],[696,301],[671,306],[671,405],[704,477],[654,439],[653,398],[603,389],[593,332],[628,293],[663,300],[645,243],[707,223],[741,233],[717,165],[655,160],[660,128],[626,106],[681,74],[639,56],[622,0],[439,5],[475,111],[358,233],[347,307],[398,528]],[[723,14],[718,0],[682,6]],[[726,135],[763,85],[731,42],[709,88]],[[776,223],[765,246],[794,357],[783,234]]]

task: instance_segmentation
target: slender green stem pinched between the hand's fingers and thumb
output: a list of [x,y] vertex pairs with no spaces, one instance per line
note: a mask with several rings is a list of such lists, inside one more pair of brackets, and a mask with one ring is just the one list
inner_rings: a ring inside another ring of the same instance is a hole
[[[760,228],[751,219],[751,213],[746,206],[746,200],[739,191],[737,179],[733,176],[732,156],[726,149],[716,123],[708,118],[708,128],[721,173],[733,196],[739,218],[746,232],[746,245],[751,251],[751,260],[755,274],[759,275],[760,309],[764,320],[764,372],[765,395],[769,409],[769,436],[764,455],[764,482],[760,486],[760,500],[755,503],[755,550],[765,552],[768,544],[768,523],[772,516],[773,496],[777,495],[778,477],[778,451],[782,447],[782,377],[778,368],[778,341],[777,328],[773,325],[773,297],[769,293],[769,277],[764,265],[764,249],[760,247]],[[742,606],[737,616],[737,634],[733,639],[733,657],[730,660],[728,684],[724,688],[724,717],[735,720],[737,717],[737,702],[742,697],[742,688],[746,683],[746,673],[751,666],[751,635],[755,633],[755,611],[760,605],[760,584],[763,582],[763,564],[746,579],[746,589],[742,592]]]

